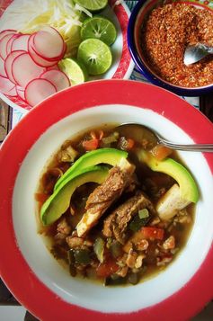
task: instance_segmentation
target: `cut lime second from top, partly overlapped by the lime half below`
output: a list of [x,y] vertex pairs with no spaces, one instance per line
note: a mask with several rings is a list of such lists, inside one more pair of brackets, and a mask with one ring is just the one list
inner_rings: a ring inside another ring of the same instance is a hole
[[117,31],[114,24],[101,16],[86,19],[81,28],[82,40],[89,38],[100,39],[108,46],[116,40]]

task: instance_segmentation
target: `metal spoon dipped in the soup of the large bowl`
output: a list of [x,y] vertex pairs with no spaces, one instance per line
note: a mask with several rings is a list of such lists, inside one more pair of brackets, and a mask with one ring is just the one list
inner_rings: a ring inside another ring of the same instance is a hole
[[193,152],[213,152],[213,144],[176,144],[162,138],[154,129],[149,129],[145,125],[137,123],[124,123],[116,128],[116,131],[120,135],[128,136],[136,141],[142,141],[146,139],[156,145],[156,143],[162,144],[166,147],[170,147],[176,150],[185,150]]

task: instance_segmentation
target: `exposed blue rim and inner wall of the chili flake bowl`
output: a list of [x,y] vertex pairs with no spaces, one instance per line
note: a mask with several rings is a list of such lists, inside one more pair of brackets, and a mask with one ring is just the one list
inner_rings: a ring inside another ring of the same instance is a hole
[[[131,57],[133,58],[136,66],[138,67],[139,72],[146,77],[154,85],[164,87],[167,90],[175,94],[182,96],[200,96],[202,94],[207,94],[213,91],[212,85],[205,85],[201,87],[183,87],[180,85],[173,85],[165,81],[160,76],[157,76],[151,67],[146,64],[146,60],[142,55],[138,32],[140,31],[141,25],[143,24],[146,16],[150,11],[152,11],[159,4],[172,3],[175,0],[139,0],[138,4],[134,7],[130,18],[128,26],[128,45]],[[180,2],[180,0],[178,0]],[[184,1],[184,3],[189,3],[189,5],[196,5],[200,8],[207,7],[207,9],[213,10],[213,2],[203,1],[203,0],[192,0]]]

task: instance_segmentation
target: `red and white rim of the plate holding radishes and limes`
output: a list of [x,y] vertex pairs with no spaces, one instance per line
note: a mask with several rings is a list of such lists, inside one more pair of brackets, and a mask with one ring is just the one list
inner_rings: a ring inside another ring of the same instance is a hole
[[[0,7],[0,18],[1,18],[1,15],[4,13],[5,9],[12,3],[13,3],[13,0],[3,0],[3,4],[1,4],[1,7]],[[116,0],[109,0],[109,4],[111,5],[111,8],[113,8],[113,12],[115,13],[120,23],[120,30],[122,34],[123,44],[122,44],[122,52],[121,52],[119,66],[117,67],[114,75],[111,76],[111,78],[126,79],[126,78],[129,78],[130,70],[132,71],[134,67],[133,61],[131,60],[131,55],[129,53],[128,40],[127,40],[127,30],[128,30],[130,12],[127,4],[115,5],[115,3],[116,3]],[[5,100],[5,103],[12,105],[12,107],[20,108],[23,112],[30,111],[33,108],[28,103],[23,102],[18,96],[11,97],[3,94],[3,100]]]

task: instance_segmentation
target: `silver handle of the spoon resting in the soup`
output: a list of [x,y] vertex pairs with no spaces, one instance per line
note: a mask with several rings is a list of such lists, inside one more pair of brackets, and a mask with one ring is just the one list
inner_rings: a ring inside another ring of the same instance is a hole
[[166,147],[170,147],[177,150],[188,150],[193,152],[207,152],[207,153],[213,153],[213,144],[188,144],[188,145],[181,145],[181,144],[175,144],[171,143],[167,140],[164,140],[163,138],[160,138],[160,143],[163,144]]

